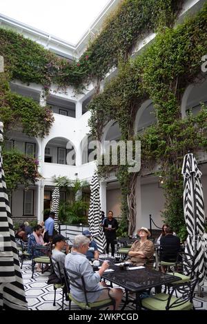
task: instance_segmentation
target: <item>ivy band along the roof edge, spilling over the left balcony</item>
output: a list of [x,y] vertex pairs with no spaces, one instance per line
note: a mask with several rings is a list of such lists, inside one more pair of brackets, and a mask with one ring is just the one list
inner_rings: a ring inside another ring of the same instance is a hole
[[21,34],[0,28],[0,55],[5,61],[5,72],[0,75],[0,119],[4,123],[5,135],[21,124],[28,136],[45,136],[53,122],[48,108],[12,94],[9,81],[18,79],[23,83],[38,83],[46,95],[52,83],[62,89],[72,86],[81,90],[86,83],[96,81],[95,88],[99,90],[101,79],[119,59],[128,59],[137,39],[146,32],[155,31],[158,26],[172,24],[181,3],[175,0],[122,1],[79,61],[72,63],[57,58]]

